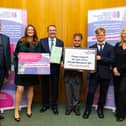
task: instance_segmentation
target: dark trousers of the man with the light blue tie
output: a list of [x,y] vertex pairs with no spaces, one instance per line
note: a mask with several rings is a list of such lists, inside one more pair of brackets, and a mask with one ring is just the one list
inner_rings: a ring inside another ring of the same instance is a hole
[[42,77],[42,104],[43,106],[57,108],[59,74],[43,75]]

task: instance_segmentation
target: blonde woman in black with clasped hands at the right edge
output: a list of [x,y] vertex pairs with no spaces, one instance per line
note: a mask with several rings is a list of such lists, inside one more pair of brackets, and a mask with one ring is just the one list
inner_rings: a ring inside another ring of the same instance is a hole
[[115,45],[114,89],[117,121],[126,117],[126,28],[121,31],[121,41]]

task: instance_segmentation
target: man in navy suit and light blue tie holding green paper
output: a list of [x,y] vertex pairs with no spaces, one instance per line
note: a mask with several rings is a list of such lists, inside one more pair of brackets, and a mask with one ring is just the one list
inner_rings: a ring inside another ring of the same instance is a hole
[[[56,37],[56,26],[49,25],[47,28],[47,32],[48,37],[40,39],[41,52],[51,54],[52,46],[58,46],[63,48],[63,41]],[[40,112],[45,112],[49,109],[51,105],[53,113],[58,114],[58,81],[60,73],[60,64],[51,63],[50,72],[50,75],[42,76],[43,102]],[[51,89],[51,91],[49,91],[49,89]],[[50,92],[51,95],[49,94]],[[49,96],[51,96],[51,98],[49,98]]]

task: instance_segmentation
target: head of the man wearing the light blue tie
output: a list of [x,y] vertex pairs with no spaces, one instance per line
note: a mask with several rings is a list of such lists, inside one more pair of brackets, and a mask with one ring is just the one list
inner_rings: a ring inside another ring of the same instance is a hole
[[48,32],[48,37],[56,38],[56,26],[54,25],[48,26],[47,32]]

